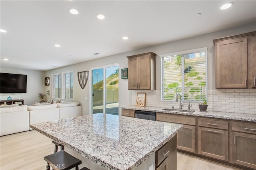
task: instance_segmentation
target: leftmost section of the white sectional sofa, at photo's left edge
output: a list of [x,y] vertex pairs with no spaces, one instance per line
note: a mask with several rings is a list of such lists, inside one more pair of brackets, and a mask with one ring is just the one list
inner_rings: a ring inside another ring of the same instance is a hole
[[0,108],[0,136],[28,131],[29,111],[27,105]]

